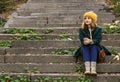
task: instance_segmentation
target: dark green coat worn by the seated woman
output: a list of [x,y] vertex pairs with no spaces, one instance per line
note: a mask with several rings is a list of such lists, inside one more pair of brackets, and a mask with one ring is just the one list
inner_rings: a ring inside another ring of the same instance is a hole
[[[79,29],[79,39],[81,42],[80,47],[77,49],[75,56],[78,57],[82,55],[81,53],[81,47],[84,46],[84,38],[89,38],[90,39],[90,32],[88,29]],[[102,28],[96,27],[92,31],[92,39],[93,39],[93,44],[97,45],[100,49],[104,49],[107,55],[111,55],[111,53],[108,51],[107,48],[104,46],[100,45],[100,42],[102,41]]]

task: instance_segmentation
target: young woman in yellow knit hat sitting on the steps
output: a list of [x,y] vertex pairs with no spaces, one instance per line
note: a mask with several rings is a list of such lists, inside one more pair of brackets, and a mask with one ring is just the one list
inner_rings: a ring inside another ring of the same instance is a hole
[[[97,14],[93,11],[86,12],[83,19],[82,28],[79,30],[81,47],[77,50],[75,56],[78,57],[82,54],[85,64],[85,74],[96,75],[96,62],[101,49],[102,29],[97,26]],[[110,54],[107,49],[105,50],[107,54]]]

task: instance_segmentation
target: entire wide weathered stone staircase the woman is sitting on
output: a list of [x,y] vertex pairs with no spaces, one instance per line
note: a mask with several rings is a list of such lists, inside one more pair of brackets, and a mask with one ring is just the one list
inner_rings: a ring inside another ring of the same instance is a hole
[[[69,53],[80,45],[78,30],[83,14],[95,11],[101,26],[115,19],[112,13],[104,10],[102,3],[95,0],[28,0],[8,21],[8,28],[0,30],[1,40],[11,41],[12,44],[11,48],[0,49],[0,73],[27,76],[30,82],[36,82],[35,79],[39,76],[57,79],[64,76],[77,82],[78,77],[84,76],[82,72],[76,72],[78,68],[79,71],[83,68],[83,61],[80,58],[81,64],[76,64],[75,58]],[[37,34],[26,35],[41,39],[19,40],[22,34],[3,32],[14,27],[33,29]],[[110,50],[120,51],[119,36],[120,34],[103,34],[102,44]],[[97,72],[96,77],[88,76],[92,82],[120,82],[120,61],[107,56],[105,63],[97,64]]]

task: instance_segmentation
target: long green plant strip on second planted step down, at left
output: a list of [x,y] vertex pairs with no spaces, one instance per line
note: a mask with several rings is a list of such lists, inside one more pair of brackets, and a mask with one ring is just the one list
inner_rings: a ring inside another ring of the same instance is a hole
[[12,38],[12,40],[45,40],[45,37],[40,35],[23,34],[23,35]]

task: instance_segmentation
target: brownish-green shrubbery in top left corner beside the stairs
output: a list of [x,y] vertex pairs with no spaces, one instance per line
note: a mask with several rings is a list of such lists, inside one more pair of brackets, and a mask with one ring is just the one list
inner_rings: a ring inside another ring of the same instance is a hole
[[27,0],[0,0],[0,27],[4,26],[7,17],[17,8],[18,4]]

